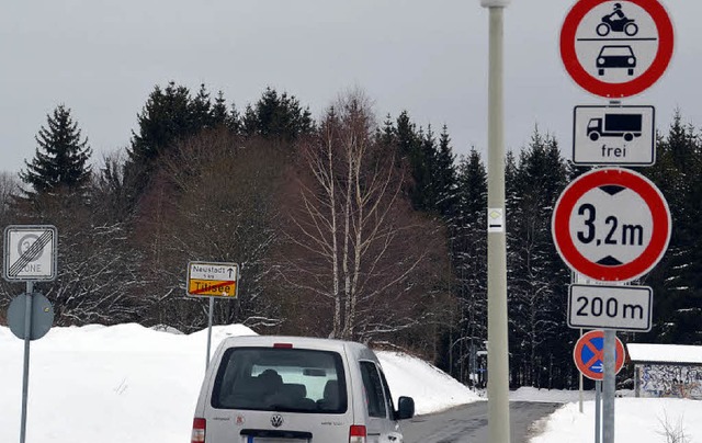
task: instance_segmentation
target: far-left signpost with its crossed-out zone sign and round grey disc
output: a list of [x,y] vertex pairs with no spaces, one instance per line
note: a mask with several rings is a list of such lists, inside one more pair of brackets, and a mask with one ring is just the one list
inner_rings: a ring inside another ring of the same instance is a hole
[[20,443],[26,440],[30,342],[44,337],[54,322],[52,304],[42,294],[34,292],[34,283],[56,279],[57,243],[55,226],[12,225],[4,230],[2,277],[11,283],[26,282],[25,294],[14,298],[8,309],[10,330],[24,340]]

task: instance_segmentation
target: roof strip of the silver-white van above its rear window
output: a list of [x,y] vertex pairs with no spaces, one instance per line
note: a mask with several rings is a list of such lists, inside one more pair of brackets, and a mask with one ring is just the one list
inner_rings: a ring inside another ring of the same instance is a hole
[[275,344],[292,344],[293,348],[303,348],[320,351],[348,352],[359,357],[377,360],[373,351],[369,347],[354,341],[320,339],[313,337],[293,337],[293,336],[237,336],[228,337],[222,345],[225,348],[233,347],[270,347]]

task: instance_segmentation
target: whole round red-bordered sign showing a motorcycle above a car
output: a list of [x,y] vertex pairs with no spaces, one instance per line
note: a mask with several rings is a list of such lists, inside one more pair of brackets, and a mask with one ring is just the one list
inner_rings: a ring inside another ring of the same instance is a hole
[[665,72],[673,29],[657,0],[580,0],[561,31],[561,58],[582,89],[603,98],[631,96]]

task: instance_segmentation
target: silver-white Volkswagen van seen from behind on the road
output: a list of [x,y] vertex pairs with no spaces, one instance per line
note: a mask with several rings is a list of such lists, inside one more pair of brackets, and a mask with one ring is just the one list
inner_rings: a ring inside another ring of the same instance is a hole
[[299,337],[231,337],[202,385],[192,443],[401,443],[398,420],[367,347]]

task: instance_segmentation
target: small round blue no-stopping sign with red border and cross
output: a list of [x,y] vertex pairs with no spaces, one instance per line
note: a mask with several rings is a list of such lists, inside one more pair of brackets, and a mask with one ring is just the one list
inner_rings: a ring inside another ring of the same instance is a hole
[[[624,344],[616,338],[616,361],[614,372],[619,374],[624,367]],[[586,377],[593,380],[604,378],[604,331],[596,330],[582,334],[575,343],[573,360],[578,371]]]

